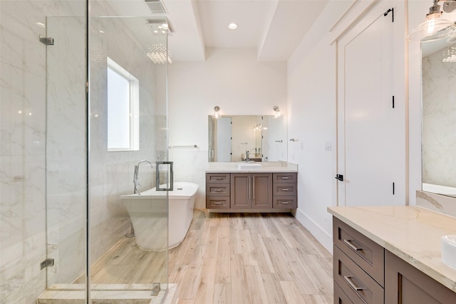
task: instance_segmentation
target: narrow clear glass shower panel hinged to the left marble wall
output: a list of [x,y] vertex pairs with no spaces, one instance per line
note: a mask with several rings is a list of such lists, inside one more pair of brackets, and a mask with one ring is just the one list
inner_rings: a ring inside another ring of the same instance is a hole
[[[48,16],[46,267],[48,289],[86,288],[86,17]],[[78,279],[77,279],[78,278]]]

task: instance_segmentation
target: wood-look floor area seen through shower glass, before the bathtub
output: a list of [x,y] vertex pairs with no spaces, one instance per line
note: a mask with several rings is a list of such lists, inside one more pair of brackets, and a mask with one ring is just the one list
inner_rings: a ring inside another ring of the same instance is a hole
[[[142,251],[123,238],[90,267],[91,284],[150,284],[167,281],[167,252]],[[74,283],[84,283],[81,276]]]

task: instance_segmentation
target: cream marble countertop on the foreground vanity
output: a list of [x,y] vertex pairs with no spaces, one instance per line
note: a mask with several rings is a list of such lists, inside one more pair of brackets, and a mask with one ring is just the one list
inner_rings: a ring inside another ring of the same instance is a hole
[[440,237],[456,218],[420,206],[328,207],[328,212],[456,292],[456,270],[442,263]]

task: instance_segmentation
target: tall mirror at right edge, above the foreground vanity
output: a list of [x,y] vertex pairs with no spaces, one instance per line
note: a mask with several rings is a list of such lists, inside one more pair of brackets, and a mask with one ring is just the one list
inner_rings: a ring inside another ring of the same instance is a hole
[[422,43],[423,191],[456,197],[456,44]]

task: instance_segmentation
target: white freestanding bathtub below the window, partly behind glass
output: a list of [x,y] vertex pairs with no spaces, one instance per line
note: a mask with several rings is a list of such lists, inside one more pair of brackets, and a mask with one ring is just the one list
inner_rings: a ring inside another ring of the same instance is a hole
[[175,182],[169,192],[152,188],[120,196],[135,229],[138,247],[144,251],[164,251],[182,243],[192,223],[197,190],[197,184]]

